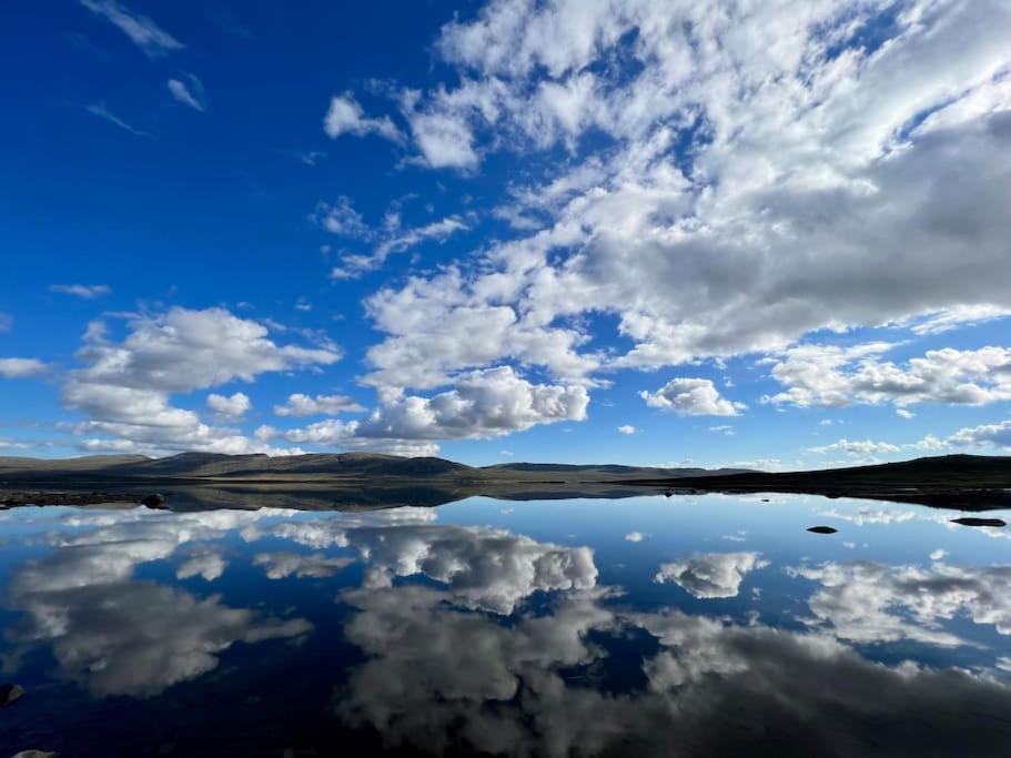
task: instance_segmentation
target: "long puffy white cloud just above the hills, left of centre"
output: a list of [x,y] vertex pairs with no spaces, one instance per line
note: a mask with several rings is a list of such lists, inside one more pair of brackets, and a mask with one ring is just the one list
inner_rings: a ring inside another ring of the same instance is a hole
[[533,384],[503,366],[459,376],[432,397],[405,395],[362,421],[327,420],[283,434],[292,443],[408,449],[437,439],[497,437],[538,424],[582,421],[589,395],[582,386]]

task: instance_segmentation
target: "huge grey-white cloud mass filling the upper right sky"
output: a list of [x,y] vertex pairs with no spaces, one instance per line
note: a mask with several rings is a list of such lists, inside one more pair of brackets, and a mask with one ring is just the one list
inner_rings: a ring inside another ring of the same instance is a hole
[[[573,161],[514,185],[515,239],[372,299],[386,337],[371,381],[505,357],[573,377],[1011,312],[1009,10],[907,11],[517,0],[447,24],[436,50],[454,75],[402,94],[423,161],[557,146]],[[588,313],[630,348],[587,348]],[[416,324],[488,337],[427,350]]]

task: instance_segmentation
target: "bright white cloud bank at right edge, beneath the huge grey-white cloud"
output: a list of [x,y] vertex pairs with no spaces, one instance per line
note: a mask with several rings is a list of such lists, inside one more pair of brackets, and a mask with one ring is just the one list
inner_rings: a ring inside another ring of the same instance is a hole
[[800,407],[893,403],[904,415],[904,406],[917,403],[985,405],[1011,400],[1011,348],[932,350],[903,367],[879,358],[893,347],[792,347],[770,360],[772,376],[787,388],[764,401]]

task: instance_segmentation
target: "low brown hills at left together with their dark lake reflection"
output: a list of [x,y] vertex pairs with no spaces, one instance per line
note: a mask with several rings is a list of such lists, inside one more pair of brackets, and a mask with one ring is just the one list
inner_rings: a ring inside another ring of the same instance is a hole
[[[372,453],[284,457],[182,453],[166,458],[87,456],[64,461],[0,458],[0,503],[140,503],[192,511],[286,507],[360,511],[437,506],[475,495],[501,499],[631,497],[643,478],[719,476],[740,469],[617,465],[467,466],[436,457]],[[160,495],[163,502],[151,499]]]

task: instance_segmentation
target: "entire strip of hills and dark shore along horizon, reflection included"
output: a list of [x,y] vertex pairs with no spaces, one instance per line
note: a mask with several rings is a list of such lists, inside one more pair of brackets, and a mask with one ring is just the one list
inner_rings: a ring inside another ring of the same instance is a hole
[[475,495],[554,499],[644,493],[809,494],[988,511],[1011,507],[1011,457],[946,455],[781,473],[527,463],[473,467],[371,453],[0,458],[0,507],[368,509],[435,506]]

